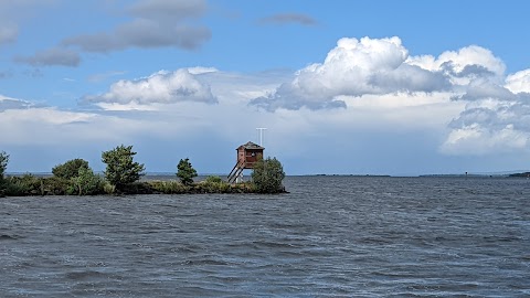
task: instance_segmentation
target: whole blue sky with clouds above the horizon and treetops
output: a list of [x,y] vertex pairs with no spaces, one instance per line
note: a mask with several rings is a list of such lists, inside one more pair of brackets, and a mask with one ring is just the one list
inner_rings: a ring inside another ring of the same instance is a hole
[[530,170],[528,1],[0,0],[0,151],[50,172]]

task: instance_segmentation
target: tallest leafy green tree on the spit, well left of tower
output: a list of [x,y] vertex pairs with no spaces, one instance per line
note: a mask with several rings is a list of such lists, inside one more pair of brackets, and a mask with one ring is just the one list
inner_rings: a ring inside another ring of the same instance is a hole
[[117,190],[124,190],[124,187],[144,175],[144,163],[134,161],[135,155],[132,146],[124,145],[102,153],[102,161],[107,164],[105,178]]

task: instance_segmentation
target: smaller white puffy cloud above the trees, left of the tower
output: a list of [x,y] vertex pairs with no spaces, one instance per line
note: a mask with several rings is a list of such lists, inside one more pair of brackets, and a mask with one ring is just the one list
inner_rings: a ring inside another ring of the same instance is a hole
[[113,109],[150,109],[148,106],[153,104],[218,102],[210,86],[186,68],[176,72],[161,71],[136,81],[121,79],[114,83],[107,93],[85,96],[84,100]]

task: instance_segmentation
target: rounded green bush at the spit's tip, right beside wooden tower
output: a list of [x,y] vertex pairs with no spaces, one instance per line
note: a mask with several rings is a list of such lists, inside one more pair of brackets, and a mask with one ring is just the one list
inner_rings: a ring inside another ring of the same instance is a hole
[[252,182],[261,193],[278,193],[284,191],[282,181],[285,178],[284,168],[276,158],[258,159],[254,163]]

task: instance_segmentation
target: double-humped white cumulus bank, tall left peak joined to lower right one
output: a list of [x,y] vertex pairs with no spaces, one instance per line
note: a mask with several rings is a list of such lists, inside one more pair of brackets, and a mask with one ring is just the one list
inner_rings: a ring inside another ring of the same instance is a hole
[[[251,105],[269,111],[346,107],[341,97],[393,93],[453,92],[453,99],[509,96],[501,86],[506,65],[491,51],[470,45],[439,56],[411,56],[396,36],[341,39],[322,63],[311,64]],[[519,74],[529,77],[528,74]]]

